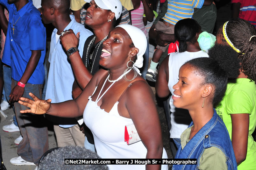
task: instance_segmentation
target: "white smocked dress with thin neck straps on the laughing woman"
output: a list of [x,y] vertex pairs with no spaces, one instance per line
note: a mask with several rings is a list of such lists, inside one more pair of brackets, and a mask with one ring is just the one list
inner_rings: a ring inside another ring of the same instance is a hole
[[[106,93],[106,91],[103,93],[103,95]],[[100,94],[101,92],[99,95]],[[97,105],[97,102],[101,99],[101,97],[99,98],[98,96],[96,102],[94,102],[91,100],[91,96],[89,96],[89,101],[83,112],[84,123],[92,131],[97,154],[101,158],[146,158],[147,149],[141,141],[131,145],[127,145],[127,143],[124,141],[124,127],[125,125],[132,124],[132,119],[119,115],[117,110],[118,101],[114,104],[109,113],[104,111],[104,109],[101,109]],[[162,158],[167,158],[165,149],[163,149]],[[146,169],[146,165],[108,165],[108,167],[110,170]],[[168,166],[162,165],[161,169],[167,170]]]

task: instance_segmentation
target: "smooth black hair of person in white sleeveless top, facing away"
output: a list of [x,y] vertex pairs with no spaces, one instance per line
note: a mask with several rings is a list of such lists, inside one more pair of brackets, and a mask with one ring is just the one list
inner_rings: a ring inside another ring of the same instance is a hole
[[187,51],[187,43],[195,44],[197,42],[196,33],[201,30],[201,26],[196,20],[186,18],[178,21],[174,27],[174,35],[179,41],[179,52]]

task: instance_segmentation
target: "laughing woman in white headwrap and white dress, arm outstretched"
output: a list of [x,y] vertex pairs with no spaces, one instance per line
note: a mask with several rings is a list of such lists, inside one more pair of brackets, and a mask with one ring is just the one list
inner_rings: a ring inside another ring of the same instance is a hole
[[[140,75],[136,76],[137,68],[133,67],[142,67],[146,45],[146,36],[138,28],[132,25],[116,27],[103,42],[99,61],[108,71],[99,70],[75,100],[50,103],[51,99],[40,100],[33,94],[30,95],[35,101],[21,98],[28,103],[19,102],[31,108],[22,112],[47,113],[59,117],[83,115],[101,158],[167,158],[153,92]],[[127,145],[124,128],[132,123],[141,141]],[[110,170],[168,169],[167,165],[108,167]]]

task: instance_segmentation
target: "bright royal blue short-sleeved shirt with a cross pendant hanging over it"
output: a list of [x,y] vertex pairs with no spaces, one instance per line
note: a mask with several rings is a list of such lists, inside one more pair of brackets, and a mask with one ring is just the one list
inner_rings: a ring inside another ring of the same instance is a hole
[[[42,23],[40,12],[33,6],[32,1],[25,4],[19,11],[14,4],[8,4],[7,0],[0,0],[0,3],[9,11],[2,61],[11,66],[11,77],[19,81],[31,57],[31,50],[42,50],[38,65],[28,83],[43,84],[46,29]],[[13,30],[13,25],[15,30]]]

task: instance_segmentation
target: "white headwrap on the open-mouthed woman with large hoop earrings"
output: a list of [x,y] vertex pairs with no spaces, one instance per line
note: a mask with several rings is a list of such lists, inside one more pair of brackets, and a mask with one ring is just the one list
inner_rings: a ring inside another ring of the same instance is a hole
[[118,25],[117,27],[123,28],[131,37],[134,46],[139,49],[134,66],[141,68],[143,66],[143,55],[147,48],[147,38],[144,32],[139,28],[128,24]]

